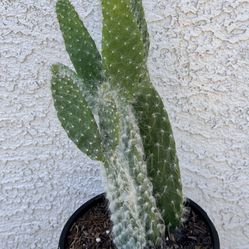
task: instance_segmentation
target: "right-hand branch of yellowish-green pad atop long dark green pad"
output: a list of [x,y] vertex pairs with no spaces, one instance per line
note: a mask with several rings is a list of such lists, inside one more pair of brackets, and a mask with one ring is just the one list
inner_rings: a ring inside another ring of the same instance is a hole
[[157,205],[166,224],[179,226],[183,201],[180,170],[169,118],[146,67],[148,36],[141,1],[103,0],[102,6],[107,75],[134,105]]

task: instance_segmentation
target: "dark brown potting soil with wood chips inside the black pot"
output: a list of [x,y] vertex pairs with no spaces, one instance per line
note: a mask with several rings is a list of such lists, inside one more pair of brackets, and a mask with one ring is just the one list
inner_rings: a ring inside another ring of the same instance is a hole
[[[186,222],[165,239],[165,248],[212,249],[211,236],[205,222],[189,207],[187,210]],[[112,242],[111,229],[108,203],[103,201],[74,223],[68,235],[66,249],[116,249]]]

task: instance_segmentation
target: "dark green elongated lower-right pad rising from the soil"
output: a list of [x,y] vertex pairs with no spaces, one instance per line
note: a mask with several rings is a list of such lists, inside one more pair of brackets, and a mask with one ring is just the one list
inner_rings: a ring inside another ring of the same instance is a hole
[[143,138],[148,175],[166,224],[180,225],[182,185],[175,141],[163,102],[153,87],[144,88],[134,109]]

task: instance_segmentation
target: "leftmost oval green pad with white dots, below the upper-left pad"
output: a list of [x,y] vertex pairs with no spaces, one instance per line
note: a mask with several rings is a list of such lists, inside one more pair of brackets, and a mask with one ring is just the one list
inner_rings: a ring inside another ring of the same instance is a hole
[[51,90],[58,118],[69,138],[93,160],[103,160],[97,124],[79,79],[62,65],[52,66]]

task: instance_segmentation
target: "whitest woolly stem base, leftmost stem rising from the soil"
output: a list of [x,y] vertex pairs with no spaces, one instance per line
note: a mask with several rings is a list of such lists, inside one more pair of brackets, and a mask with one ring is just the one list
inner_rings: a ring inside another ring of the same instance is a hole
[[107,159],[108,166],[102,167],[113,223],[113,241],[119,249],[144,249],[146,233],[139,217],[136,188],[128,162],[122,157],[116,152]]

